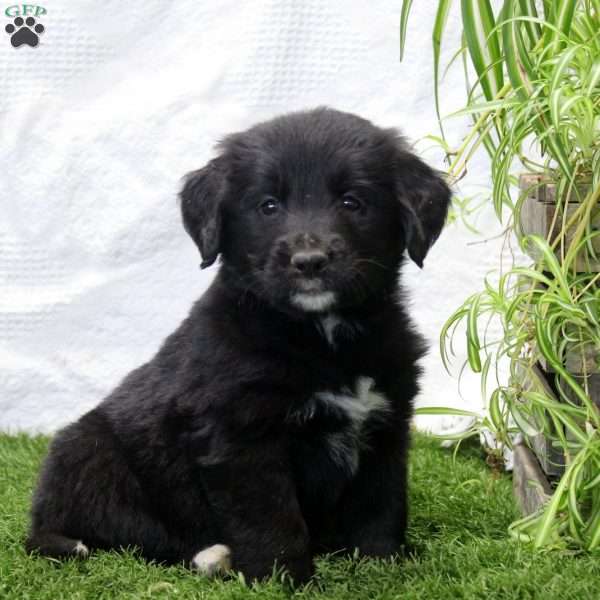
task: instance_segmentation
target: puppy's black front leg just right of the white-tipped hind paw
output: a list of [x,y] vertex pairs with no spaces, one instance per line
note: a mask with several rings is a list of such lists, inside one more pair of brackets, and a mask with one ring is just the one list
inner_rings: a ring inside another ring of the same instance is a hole
[[262,579],[277,565],[296,584],[310,578],[308,530],[283,444],[255,442],[205,466],[202,478],[235,571]]

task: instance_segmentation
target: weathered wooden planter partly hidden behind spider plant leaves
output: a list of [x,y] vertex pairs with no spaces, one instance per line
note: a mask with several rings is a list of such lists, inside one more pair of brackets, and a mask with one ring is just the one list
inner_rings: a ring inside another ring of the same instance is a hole
[[[563,219],[568,219],[578,208],[578,202],[569,201],[566,208],[559,212],[555,219],[557,210],[555,199],[555,186],[544,184],[539,175],[522,175],[520,178],[521,190],[526,192],[521,210],[521,228],[524,234],[537,234],[552,240],[562,226]],[[582,187],[580,193],[585,195],[587,190]],[[554,226],[553,226],[554,222]],[[592,213],[592,228],[600,229],[600,207]],[[571,232],[572,236],[572,232]],[[572,237],[566,236],[566,243],[570,243]],[[593,241],[594,252],[600,256],[600,236]],[[540,258],[535,247],[527,249],[529,255],[538,260]],[[557,258],[561,260],[560,251],[557,249]],[[599,272],[600,260],[594,259],[582,249],[575,263],[578,272]],[[599,349],[589,348],[583,353],[573,352],[566,356],[565,368],[575,379],[583,382],[587,374],[587,385],[592,400],[600,409],[600,372],[598,370]],[[544,394],[560,401],[554,378],[556,373],[550,365],[542,361],[531,369],[531,372],[519,373],[520,384],[524,389],[535,387],[542,388]],[[573,402],[577,398],[568,386],[562,386],[566,394]],[[525,514],[529,514],[543,504],[551,493],[549,482],[559,478],[565,469],[565,456],[560,448],[551,445],[544,434],[538,434],[527,438],[527,445],[515,448],[514,454],[514,476],[513,486],[517,500]]]

